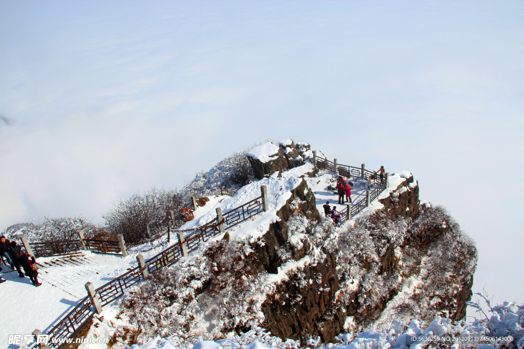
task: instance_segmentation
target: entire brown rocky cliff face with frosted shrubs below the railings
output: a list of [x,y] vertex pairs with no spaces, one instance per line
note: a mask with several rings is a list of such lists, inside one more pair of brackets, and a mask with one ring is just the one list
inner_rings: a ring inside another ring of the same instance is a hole
[[319,216],[303,180],[261,238],[225,238],[162,269],[126,300],[128,316],[155,309],[133,320],[143,335],[177,333],[188,343],[253,326],[283,340],[328,343],[394,319],[459,320],[472,296],[476,249],[444,209],[421,205],[418,193],[408,178],[380,199],[383,209],[341,231]]

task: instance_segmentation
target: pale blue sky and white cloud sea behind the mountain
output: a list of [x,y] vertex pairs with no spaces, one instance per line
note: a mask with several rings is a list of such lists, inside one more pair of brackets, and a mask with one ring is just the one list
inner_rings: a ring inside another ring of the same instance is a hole
[[523,2],[0,3],[0,229],[292,138],[408,170],[524,302]]

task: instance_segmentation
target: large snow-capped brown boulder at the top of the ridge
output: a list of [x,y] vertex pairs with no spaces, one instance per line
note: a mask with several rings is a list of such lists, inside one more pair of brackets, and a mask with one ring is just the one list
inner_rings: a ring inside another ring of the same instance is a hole
[[258,179],[289,168],[289,161],[281,147],[271,142],[259,145],[246,153]]

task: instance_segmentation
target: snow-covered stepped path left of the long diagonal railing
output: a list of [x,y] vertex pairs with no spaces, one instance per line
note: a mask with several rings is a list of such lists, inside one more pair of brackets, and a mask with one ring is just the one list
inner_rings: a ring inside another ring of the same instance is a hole
[[[230,196],[210,197],[205,206],[195,212],[198,219],[209,213],[217,203]],[[171,244],[176,237],[171,236]],[[164,236],[153,242],[128,249],[129,256],[79,252],[68,256],[37,258],[38,279],[35,287],[29,278],[20,278],[16,271],[2,274],[7,282],[0,285],[0,348],[8,347],[9,334],[30,334],[35,329],[46,333],[64,314],[87,296],[85,283],[100,287],[128,269],[137,266],[136,255],[148,258],[167,246]],[[9,266],[8,266],[9,267]],[[10,267],[9,267],[10,269]],[[5,272],[5,268],[3,270]],[[10,345],[11,349],[18,346]]]

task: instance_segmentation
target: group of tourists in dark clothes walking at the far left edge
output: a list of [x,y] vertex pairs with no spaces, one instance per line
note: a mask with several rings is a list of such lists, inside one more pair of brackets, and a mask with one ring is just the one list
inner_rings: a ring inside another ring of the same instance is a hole
[[[0,258],[2,260],[0,271],[3,269],[2,265],[7,268],[7,264],[9,264],[11,269],[16,269],[18,276],[29,277],[32,284],[36,287],[42,285],[42,283],[39,283],[37,279],[38,271],[35,257],[23,252],[21,246],[16,244],[16,241],[9,241],[5,237],[0,237]],[[22,273],[20,266],[24,268],[26,275]],[[6,280],[0,277],[0,284],[4,282],[6,282]]]

